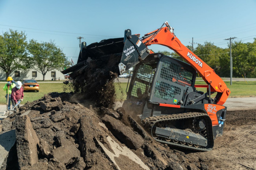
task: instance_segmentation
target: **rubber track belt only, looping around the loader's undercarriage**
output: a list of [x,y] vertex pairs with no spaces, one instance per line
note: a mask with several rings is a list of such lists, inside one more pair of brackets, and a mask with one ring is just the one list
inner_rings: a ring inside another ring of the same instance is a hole
[[207,119],[206,119],[207,120],[207,138],[209,142],[207,145],[207,148],[176,144],[173,142],[167,142],[160,139],[155,139],[155,140],[161,143],[166,143],[166,144],[170,144],[170,145],[185,148],[185,149],[197,150],[197,151],[209,151],[209,150],[212,150],[213,148],[214,139],[213,139],[213,133],[212,133],[212,122],[207,113],[188,112],[188,113],[179,113],[179,114],[172,114],[172,115],[152,116],[152,117],[143,119],[142,122],[145,125],[145,127],[153,127],[154,124],[157,122],[162,122],[162,121],[165,122],[165,121],[172,121],[172,120],[178,120],[178,119],[188,119],[188,118],[199,117],[199,116],[207,116]]

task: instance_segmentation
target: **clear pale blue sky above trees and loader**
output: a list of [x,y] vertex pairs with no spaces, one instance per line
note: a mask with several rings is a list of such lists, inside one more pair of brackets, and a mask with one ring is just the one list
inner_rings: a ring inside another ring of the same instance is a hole
[[[253,42],[256,0],[0,0],[0,34],[11,28],[24,31],[28,41],[54,40],[74,62],[79,36],[89,45],[123,37],[128,28],[144,35],[165,21],[184,45],[191,45],[193,37],[195,43],[227,48],[224,39],[230,37]],[[150,48],[169,50],[160,45]]]

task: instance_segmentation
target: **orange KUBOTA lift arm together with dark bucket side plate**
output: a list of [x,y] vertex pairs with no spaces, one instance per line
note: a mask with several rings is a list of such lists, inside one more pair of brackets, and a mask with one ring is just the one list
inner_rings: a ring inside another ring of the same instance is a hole
[[139,34],[131,35],[131,30],[125,30],[125,50],[123,51],[122,59],[119,64],[120,74],[123,74],[129,68],[145,59],[148,54],[153,53],[147,48],[148,45],[164,45],[175,51],[200,74],[207,85],[209,85],[210,92],[217,92],[215,103],[223,105],[230,95],[230,90],[227,88],[227,85],[209,65],[180,42],[173,33],[173,30],[174,29],[169,26],[167,21],[161,28],[145,34],[141,39],[139,39]]

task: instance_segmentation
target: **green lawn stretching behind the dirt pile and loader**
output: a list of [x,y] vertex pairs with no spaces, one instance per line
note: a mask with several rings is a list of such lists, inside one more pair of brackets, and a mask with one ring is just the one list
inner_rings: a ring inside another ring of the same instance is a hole
[[[256,96],[256,82],[233,82],[233,85],[230,85],[230,82],[225,82],[227,87],[230,89],[231,94],[230,97],[249,97]],[[204,81],[196,81],[195,84],[205,84]],[[0,83],[3,86],[4,83]],[[116,99],[118,101],[123,101],[126,99],[126,87],[127,83],[116,83]],[[206,88],[197,88],[198,91],[206,92]],[[40,99],[44,96],[44,94],[48,94],[50,92],[63,92],[63,84],[62,83],[40,83],[40,91],[34,92],[24,92],[24,100],[23,103],[29,101],[32,102],[34,100]],[[6,92],[0,90],[0,104],[6,104],[5,98]],[[214,95],[213,95],[214,96]],[[212,96],[212,97],[213,97]]]

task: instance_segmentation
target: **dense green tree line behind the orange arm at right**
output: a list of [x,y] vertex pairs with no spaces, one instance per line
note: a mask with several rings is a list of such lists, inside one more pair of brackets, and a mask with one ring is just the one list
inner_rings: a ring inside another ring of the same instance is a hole
[[[227,43],[228,45],[228,43]],[[192,46],[187,46],[192,49]],[[158,51],[184,61],[175,52]],[[212,42],[198,44],[193,50],[194,54],[201,58],[220,77],[230,77],[230,47],[219,48]],[[256,77],[256,39],[253,43],[241,41],[232,43],[233,77]]]

